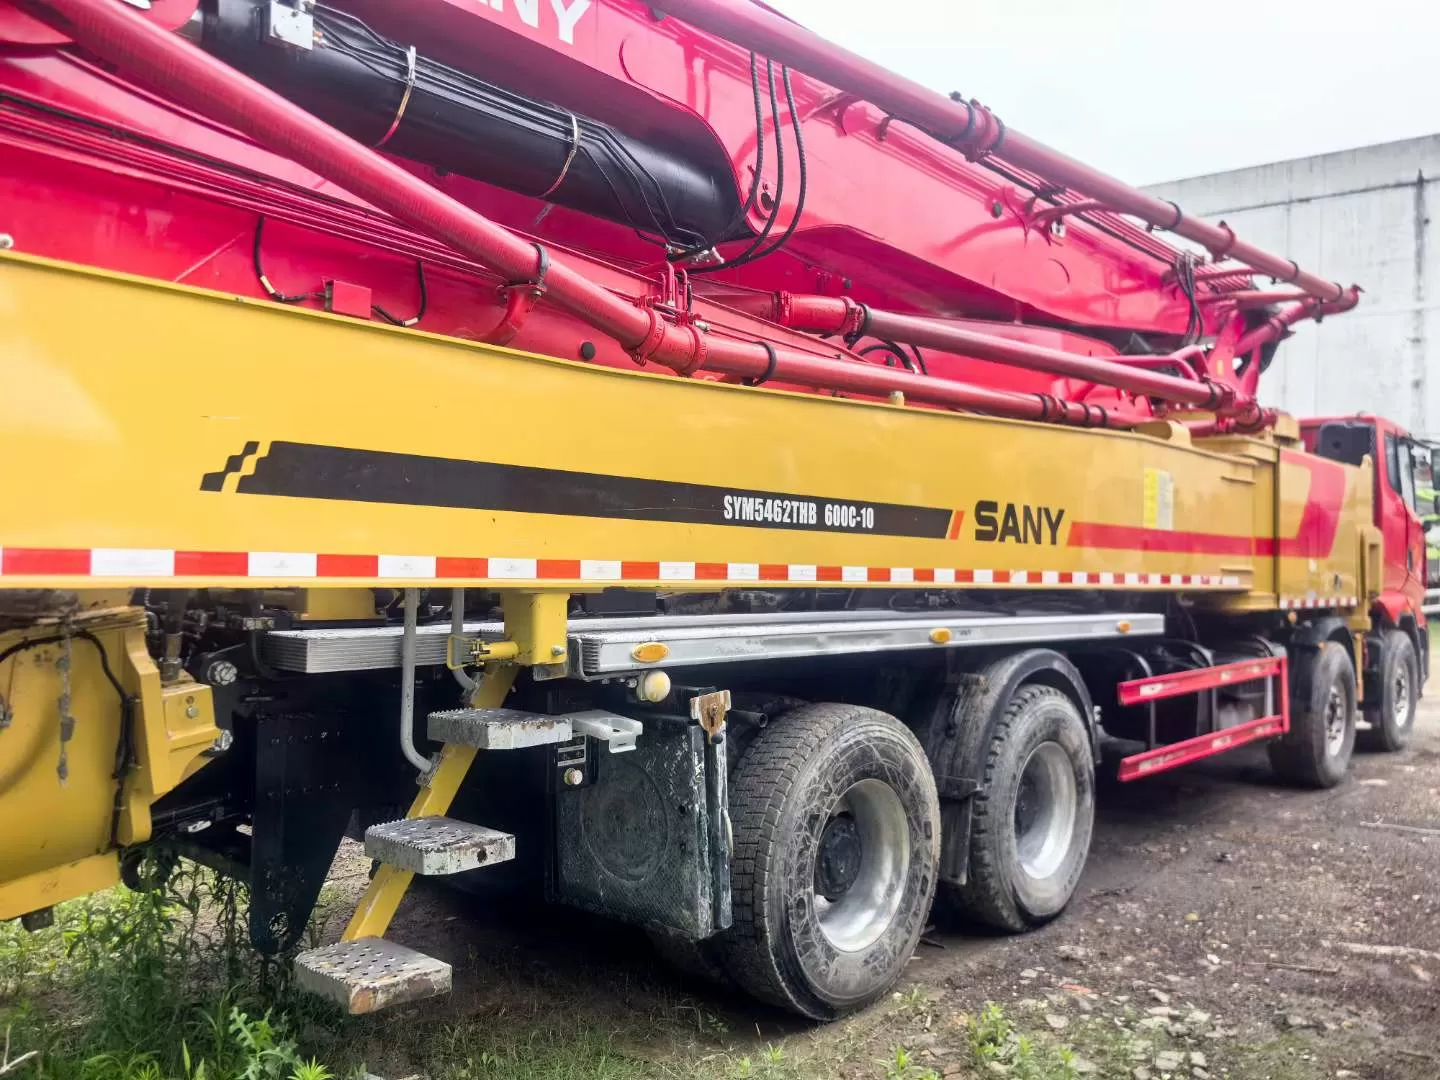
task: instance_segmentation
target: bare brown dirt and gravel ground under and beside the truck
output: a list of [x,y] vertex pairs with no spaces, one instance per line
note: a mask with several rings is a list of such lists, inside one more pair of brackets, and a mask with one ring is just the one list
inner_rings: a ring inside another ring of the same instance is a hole
[[[353,854],[337,871],[328,937],[364,880]],[[626,927],[425,888],[390,936],[454,962],[455,994],[341,1038],[390,1077],[1434,1080],[1437,883],[1426,704],[1410,750],[1359,755],[1335,791],[1276,788],[1263,753],[1102,791],[1063,919],[936,930],[891,999],[840,1024],[685,984]],[[991,1063],[986,1018],[1005,1028]],[[1051,1064],[1020,1061],[1020,1041]]]

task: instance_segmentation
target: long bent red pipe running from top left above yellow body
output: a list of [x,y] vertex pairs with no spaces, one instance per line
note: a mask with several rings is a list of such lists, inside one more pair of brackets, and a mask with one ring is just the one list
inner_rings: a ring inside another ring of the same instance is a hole
[[114,0],[26,0],[27,10],[121,71],[161,86],[183,104],[251,135],[271,150],[346,187],[373,206],[444,240],[511,281],[533,281],[546,295],[609,334],[638,360],[681,374],[701,367],[744,379],[775,379],[955,409],[1096,426],[1132,426],[1148,418],[1043,395],[989,390],[894,369],[711,337],[671,324],[596,285],[562,262],[419,177],[360,145],[320,118],[261,86],[194,45]]

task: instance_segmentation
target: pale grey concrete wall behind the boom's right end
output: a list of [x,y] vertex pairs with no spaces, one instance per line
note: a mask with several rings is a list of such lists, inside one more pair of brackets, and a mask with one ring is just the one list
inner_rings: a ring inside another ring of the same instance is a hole
[[1302,324],[1280,346],[1261,400],[1297,416],[1377,412],[1440,438],[1437,181],[1440,135],[1431,135],[1148,190],[1365,291],[1354,311]]

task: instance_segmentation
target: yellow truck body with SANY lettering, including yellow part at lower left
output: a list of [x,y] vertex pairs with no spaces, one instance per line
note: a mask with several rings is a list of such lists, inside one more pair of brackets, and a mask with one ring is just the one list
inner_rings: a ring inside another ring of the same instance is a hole
[[[161,684],[135,588],[328,619],[494,589],[514,661],[552,664],[554,598],[611,585],[1165,592],[1355,629],[1380,585],[1369,471],[1293,423],[1192,445],[619,372],[13,253],[0,311],[0,655],[71,635],[68,675],[63,642],[0,661],[0,919],[114,881],[219,734],[207,687]],[[132,703],[118,818],[82,629]]]

